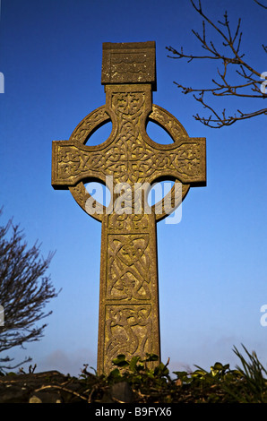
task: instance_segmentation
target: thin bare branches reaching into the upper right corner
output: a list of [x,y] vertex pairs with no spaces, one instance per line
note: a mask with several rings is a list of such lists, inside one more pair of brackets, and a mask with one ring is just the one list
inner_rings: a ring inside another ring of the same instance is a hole
[[[204,94],[211,94],[215,97],[224,97],[224,96],[235,96],[239,98],[249,98],[249,99],[266,99],[267,92],[261,89],[263,86],[263,73],[254,69],[251,64],[248,64],[245,61],[245,54],[240,53],[242,32],[241,32],[241,19],[237,21],[236,30],[231,30],[230,23],[228,21],[228,13],[225,12],[222,21],[218,21],[215,24],[211,19],[202,11],[201,0],[198,0],[198,5],[194,0],[190,0],[191,4],[194,7],[194,10],[199,13],[202,20],[202,34],[198,33],[195,30],[192,30],[196,39],[201,43],[202,48],[205,50],[206,54],[204,55],[193,55],[185,54],[183,47],[178,51],[174,47],[167,47],[168,51],[172,53],[170,58],[185,58],[187,62],[190,63],[193,60],[217,60],[222,65],[221,69],[217,68],[218,78],[217,80],[212,79],[213,86],[211,88],[202,88],[196,89],[192,87],[186,87],[181,83],[177,83],[177,87],[182,90],[182,93],[197,93],[199,92],[199,97],[194,95],[194,99],[202,103],[202,106],[209,108],[211,110],[211,116],[208,118],[200,117],[199,115],[194,116],[198,121],[203,125],[209,125],[211,127],[222,127],[223,125],[232,125],[233,123],[244,120],[245,118],[250,118],[253,116],[265,115],[267,108],[260,109],[258,111],[253,111],[251,113],[245,114],[237,110],[237,114],[234,116],[226,116],[226,111],[223,110],[222,115],[219,114],[204,101]],[[255,3],[265,7],[263,4],[260,4],[256,0]],[[220,35],[222,39],[223,50],[215,46],[213,40],[208,41],[206,36],[206,23],[211,26],[213,30]],[[265,53],[267,53],[267,46],[262,46]],[[229,67],[236,67],[237,77],[240,78],[240,82],[232,82],[229,80],[228,69]],[[262,79],[262,81],[260,80]]]

